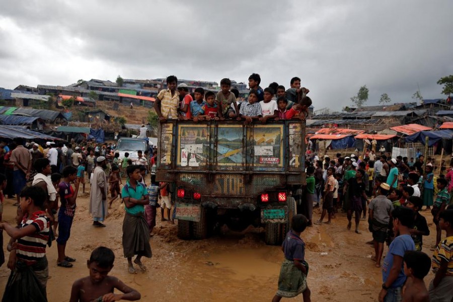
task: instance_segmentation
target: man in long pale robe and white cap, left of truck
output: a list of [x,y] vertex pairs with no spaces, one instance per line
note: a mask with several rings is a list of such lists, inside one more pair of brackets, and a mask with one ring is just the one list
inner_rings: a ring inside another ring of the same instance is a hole
[[107,178],[104,169],[107,167],[105,157],[100,156],[96,160],[96,168],[93,171],[93,179],[90,189],[90,213],[93,216],[93,225],[104,227],[105,217],[107,216]]

